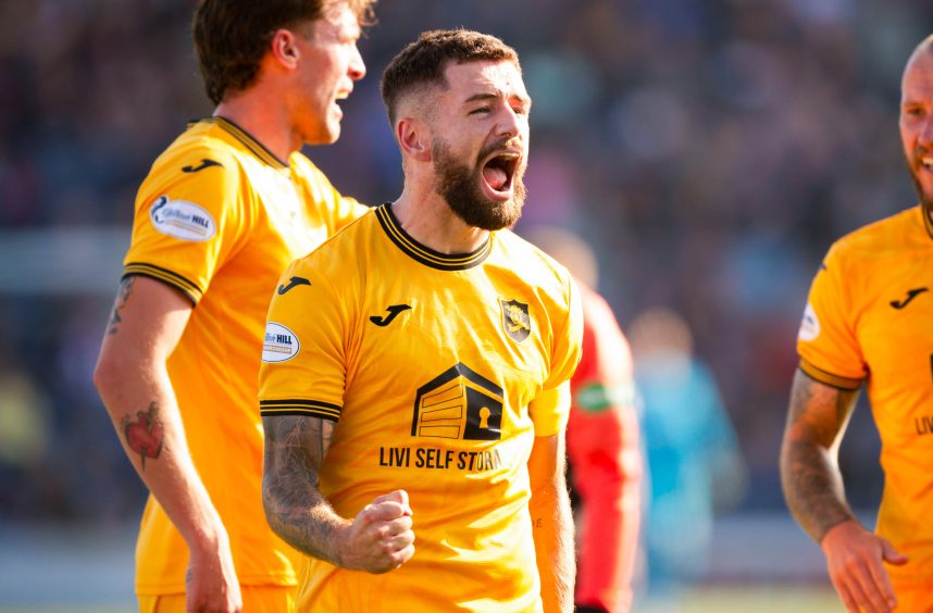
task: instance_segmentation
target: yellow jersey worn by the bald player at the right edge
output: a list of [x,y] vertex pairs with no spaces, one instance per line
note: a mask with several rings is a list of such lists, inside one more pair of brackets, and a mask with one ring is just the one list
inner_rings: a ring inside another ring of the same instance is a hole
[[910,558],[900,581],[933,578],[933,225],[922,208],[837,241],[810,289],[800,368],[842,389],[867,381],[885,486],[878,533]]

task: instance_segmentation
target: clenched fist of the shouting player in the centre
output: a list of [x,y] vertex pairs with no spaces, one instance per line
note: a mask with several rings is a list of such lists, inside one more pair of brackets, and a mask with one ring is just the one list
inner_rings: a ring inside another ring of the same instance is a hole
[[408,492],[397,489],[360,511],[347,527],[340,565],[368,573],[387,573],[414,555]]

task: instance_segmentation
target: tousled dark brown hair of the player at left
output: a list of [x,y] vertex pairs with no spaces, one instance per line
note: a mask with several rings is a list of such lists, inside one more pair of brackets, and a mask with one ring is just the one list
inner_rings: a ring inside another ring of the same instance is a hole
[[360,25],[371,23],[375,0],[201,0],[191,37],[204,88],[214,104],[256,80],[272,35],[318,20],[331,4],[346,3]]

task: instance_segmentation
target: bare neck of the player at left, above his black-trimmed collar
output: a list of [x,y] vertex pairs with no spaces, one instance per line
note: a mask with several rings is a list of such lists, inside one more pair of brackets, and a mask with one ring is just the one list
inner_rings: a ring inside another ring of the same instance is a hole
[[225,98],[214,110],[214,116],[234,122],[287,164],[288,157],[301,148],[301,138],[293,129],[285,105],[270,103],[274,98],[275,95],[253,87]]

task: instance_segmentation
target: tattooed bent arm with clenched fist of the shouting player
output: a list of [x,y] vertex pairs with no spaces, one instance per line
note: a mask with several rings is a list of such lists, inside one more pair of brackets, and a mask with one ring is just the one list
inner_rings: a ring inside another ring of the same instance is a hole
[[338,515],[319,487],[334,423],[312,416],[263,416],[262,503],[269,525],[286,542],[337,566],[386,573],[414,553],[408,493],[376,498],[356,516]]

